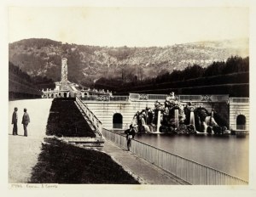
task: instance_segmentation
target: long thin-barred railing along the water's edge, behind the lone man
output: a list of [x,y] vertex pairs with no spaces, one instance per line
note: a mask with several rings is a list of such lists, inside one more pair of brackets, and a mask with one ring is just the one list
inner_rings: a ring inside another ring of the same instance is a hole
[[[105,138],[126,149],[126,138],[116,132],[103,129]],[[195,185],[243,185],[247,181],[230,176],[211,167],[201,165],[193,160],[185,159],[162,149],[157,149],[135,139],[131,142],[131,152],[144,160],[159,166],[160,168],[183,179],[187,183]]]

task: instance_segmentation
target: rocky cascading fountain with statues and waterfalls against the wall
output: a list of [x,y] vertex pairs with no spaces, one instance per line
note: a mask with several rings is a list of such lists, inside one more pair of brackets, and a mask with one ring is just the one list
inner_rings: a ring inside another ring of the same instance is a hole
[[[147,107],[141,112],[137,111],[133,120],[137,120],[138,132],[170,134],[229,133],[226,127],[218,126],[214,119],[216,113],[213,110],[209,113],[205,108],[195,107],[191,102],[184,105],[175,99],[166,99],[164,104],[156,101],[153,110]],[[219,115],[217,117],[220,119]]]

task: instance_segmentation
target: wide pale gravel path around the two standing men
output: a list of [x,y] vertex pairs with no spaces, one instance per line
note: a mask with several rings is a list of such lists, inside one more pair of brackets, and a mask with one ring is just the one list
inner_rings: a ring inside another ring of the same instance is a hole
[[[44,140],[45,129],[52,99],[27,99],[9,102],[9,183],[27,183],[32,167],[37,164]],[[12,135],[11,118],[14,108],[18,108],[18,136]],[[27,109],[31,123],[28,137],[24,137],[21,124],[23,109]]]

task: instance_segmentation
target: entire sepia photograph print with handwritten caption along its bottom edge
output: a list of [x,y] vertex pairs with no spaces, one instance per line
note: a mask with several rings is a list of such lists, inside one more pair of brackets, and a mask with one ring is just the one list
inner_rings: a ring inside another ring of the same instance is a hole
[[9,189],[249,189],[250,7],[233,2],[9,4]]

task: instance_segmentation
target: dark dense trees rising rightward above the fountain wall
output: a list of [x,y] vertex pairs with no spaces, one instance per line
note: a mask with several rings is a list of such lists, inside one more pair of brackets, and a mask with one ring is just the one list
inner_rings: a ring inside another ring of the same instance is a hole
[[[196,93],[208,93],[206,87],[215,88],[216,93],[227,93],[234,96],[248,96],[249,58],[231,56],[226,61],[213,62],[207,68],[200,65],[188,66],[184,70],[173,70],[147,80],[121,82],[115,78],[101,78],[95,84],[97,88],[112,88],[116,93],[168,93],[176,90],[179,93],[195,93],[193,88],[185,92],[181,88],[203,87]],[[214,87],[215,86],[215,87]],[[227,87],[228,86],[228,87]]]

